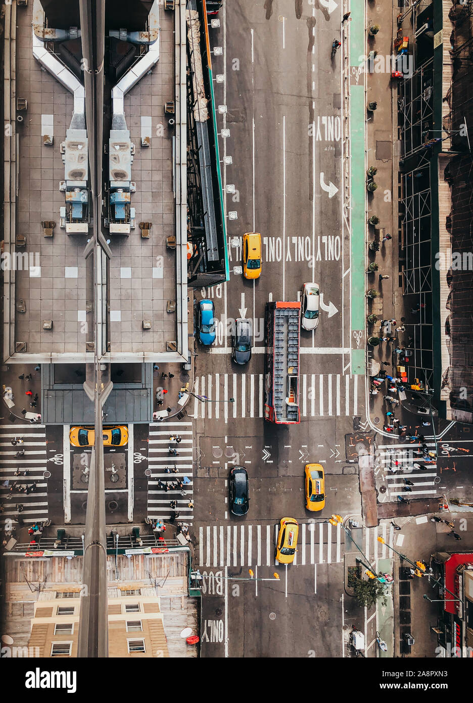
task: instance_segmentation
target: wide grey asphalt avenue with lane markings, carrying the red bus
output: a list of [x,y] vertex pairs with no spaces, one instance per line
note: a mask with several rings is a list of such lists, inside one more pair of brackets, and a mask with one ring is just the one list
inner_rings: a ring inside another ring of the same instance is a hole
[[[188,406],[197,434],[202,656],[342,657],[342,626],[354,603],[344,614],[344,534],[326,521],[332,512],[361,512],[358,476],[344,447],[354,416],[365,418],[365,392],[363,377],[346,375],[350,273],[340,182],[341,74],[339,57],[330,61],[340,8],[329,18],[309,3],[232,2],[219,18],[210,44],[222,46],[223,56],[214,56],[212,67],[214,77],[224,76],[214,86],[216,105],[226,105],[219,131],[230,129],[220,141],[221,158],[233,161],[223,167],[223,189],[235,186],[226,211],[237,219],[227,219],[231,280],[195,291],[196,299],[214,300],[220,321],[214,347],[198,349],[195,359],[196,391],[211,402],[194,399]],[[255,282],[233,272],[247,231],[261,233],[263,243]],[[262,418],[264,306],[297,299],[310,281],[323,299],[318,329],[301,334],[301,423],[276,427]],[[244,368],[233,365],[228,336],[240,316],[252,318],[254,328],[253,356]],[[309,461],[325,466],[321,513],[304,509]],[[235,463],[250,475],[250,512],[242,520],[226,502]],[[301,525],[296,563],[287,568],[274,560],[283,515]],[[250,578],[249,569],[271,581],[239,580]]]

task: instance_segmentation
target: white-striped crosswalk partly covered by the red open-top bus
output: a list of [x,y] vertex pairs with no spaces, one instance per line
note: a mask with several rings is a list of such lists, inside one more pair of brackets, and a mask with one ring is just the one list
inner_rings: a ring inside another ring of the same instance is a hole
[[[358,397],[358,375],[303,373],[299,379],[301,417],[358,415],[364,401]],[[360,385],[360,387],[358,387]],[[212,373],[195,378],[193,392],[195,418],[262,418],[264,416],[264,374]]]

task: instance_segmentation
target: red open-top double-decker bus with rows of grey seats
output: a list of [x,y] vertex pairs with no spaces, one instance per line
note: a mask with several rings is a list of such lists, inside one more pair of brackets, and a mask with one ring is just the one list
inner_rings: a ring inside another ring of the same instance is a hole
[[297,425],[299,413],[300,302],[266,303],[264,419]]

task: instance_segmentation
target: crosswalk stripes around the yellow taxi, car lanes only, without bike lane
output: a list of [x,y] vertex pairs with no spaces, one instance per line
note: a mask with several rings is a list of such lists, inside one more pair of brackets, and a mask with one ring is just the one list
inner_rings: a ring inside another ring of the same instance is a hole
[[[277,531],[276,524],[199,527],[199,566],[275,565]],[[332,528],[325,522],[318,523],[318,526],[314,522],[299,524],[294,565],[340,562],[343,539],[340,527]]]

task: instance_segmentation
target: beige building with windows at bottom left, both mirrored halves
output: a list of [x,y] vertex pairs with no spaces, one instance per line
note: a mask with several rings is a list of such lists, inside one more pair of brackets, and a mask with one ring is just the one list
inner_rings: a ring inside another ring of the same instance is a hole
[[[77,657],[82,557],[8,557],[2,633],[30,657]],[[181,637],[197,625],[187,555],[108,557],[109,657],[195,657]],[[12,656],[15,656],[13,649]],[[25,654],[23,655],[25,656]]]

